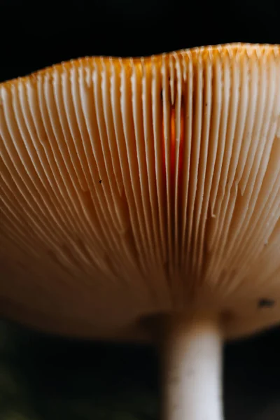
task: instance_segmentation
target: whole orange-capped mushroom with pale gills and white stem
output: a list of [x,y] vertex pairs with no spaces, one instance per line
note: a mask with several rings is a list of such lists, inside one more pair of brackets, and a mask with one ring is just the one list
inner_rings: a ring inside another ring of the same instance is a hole
[[223,342],[280,321],[280,47],[87,57],[0,85],[1,314],[159,342],[221,420]]

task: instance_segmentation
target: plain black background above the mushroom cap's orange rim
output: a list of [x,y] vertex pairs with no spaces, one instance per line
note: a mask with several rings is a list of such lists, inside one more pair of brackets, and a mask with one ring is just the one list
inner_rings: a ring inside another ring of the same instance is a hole
[[0,80],[85,55],[280,43],[279,0],[0,0]]

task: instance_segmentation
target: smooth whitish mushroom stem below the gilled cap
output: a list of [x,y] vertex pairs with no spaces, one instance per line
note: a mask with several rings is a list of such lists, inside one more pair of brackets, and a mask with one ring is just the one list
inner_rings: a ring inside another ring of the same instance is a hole
[[172,321],[164,351],[165,420],[222,420],[223,340],[209,318]]

